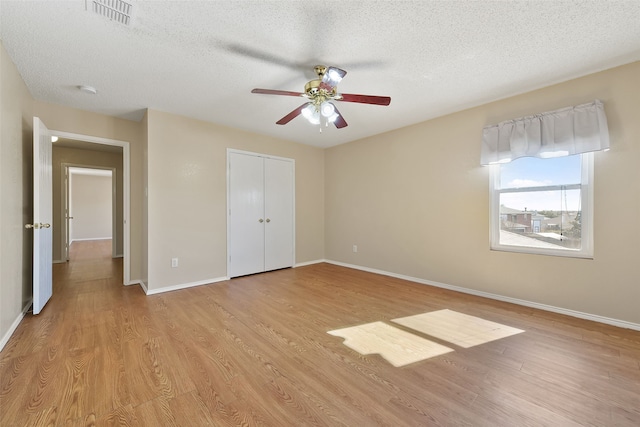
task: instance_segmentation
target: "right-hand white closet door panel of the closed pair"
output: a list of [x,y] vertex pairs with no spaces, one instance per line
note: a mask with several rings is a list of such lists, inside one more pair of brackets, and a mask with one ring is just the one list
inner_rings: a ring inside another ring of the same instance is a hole
[[293,266],[293,162],[264,159],[265,271]]

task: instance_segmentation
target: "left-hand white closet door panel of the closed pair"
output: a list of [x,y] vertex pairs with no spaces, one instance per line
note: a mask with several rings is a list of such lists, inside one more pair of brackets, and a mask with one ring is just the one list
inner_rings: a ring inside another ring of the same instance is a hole
[[264,159],[229,153],[229,277],[264,271]]

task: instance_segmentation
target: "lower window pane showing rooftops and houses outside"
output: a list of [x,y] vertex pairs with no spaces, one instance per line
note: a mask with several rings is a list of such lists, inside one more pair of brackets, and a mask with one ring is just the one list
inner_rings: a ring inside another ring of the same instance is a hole
[[500,194],[500,244],[581,249],[580,190]]

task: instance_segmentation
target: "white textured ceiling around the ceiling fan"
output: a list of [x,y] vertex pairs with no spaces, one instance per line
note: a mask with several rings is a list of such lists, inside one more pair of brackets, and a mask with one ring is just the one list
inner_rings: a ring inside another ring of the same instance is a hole
[[[640,1],[132,1],[130,26],[84,0],[0,1],[34,98],[139,120],[146,108],[329,147],[640,60]],[[349,126],[275,122],[316,64],[348,71]],[[97,95],[80,92],[94,86]]]

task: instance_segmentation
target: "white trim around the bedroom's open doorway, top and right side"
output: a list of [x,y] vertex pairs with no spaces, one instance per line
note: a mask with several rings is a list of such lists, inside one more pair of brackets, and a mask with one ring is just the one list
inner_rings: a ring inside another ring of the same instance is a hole
[[122,252],[124,258],[123,281],[124,285],[136,285],[138,281],[131,281],[131,144],[128,141],[117,139],[101,138],[91,135],[63,132],[50,129],[52,136],[59,138],[73,139],[76,141],[90,142],[92,144],[112,145],[122,147]]

